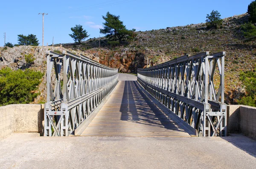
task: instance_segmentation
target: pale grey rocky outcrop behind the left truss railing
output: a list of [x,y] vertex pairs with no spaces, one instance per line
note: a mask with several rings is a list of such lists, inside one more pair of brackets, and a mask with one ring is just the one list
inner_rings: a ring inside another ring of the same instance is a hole
[[[74,51],[72,49],[65,49],[63,47],[52,47],[52,46],[17,46],[13,48],[0,48],[0,69],[8,66],[13,70],[17,69],[33,69],[44,73],[42,83],[39,86],[39,91],[41,95],[35,100],[35,103],[44,103],[46,100],[46,51],[55,51],[62,53],[64,50],[76,54],[84,54],[93,60],[99,62],[99,57],[95,57],[93,54]],[[26,63],[25,56],[31,55],[35,58],[34,63]]]

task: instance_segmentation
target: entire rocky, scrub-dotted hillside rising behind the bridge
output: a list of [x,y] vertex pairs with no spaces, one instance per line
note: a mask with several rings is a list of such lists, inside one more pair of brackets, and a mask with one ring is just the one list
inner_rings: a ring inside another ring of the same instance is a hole
[[[208,30],[205,23],[187,26],[167,27],[160,30],[137,32],[137,37],[130,44],[120,47],[108,46],[107,40],[93,38],[81,45],[74,43],[58,44],[55,47],[20,46],[12,49],[0,49],[0,68],[11,66],[24,69],[24,54],[33,53],[36,57],[33,69],[45,71],[44,54],[46,50],[69,50],[84,52],[100,63],[120,72],[136,73],[137,68],[146,66],[146,58],[151,65],[180,57],[184,54],[211,53],[226,51],[225,58],[225,94],[227,103],[234,104],[244,94],[239,73],[255,69],[255,41],[244,41],[240,26],[248,20],[247,14],[225,18],[221,29]],[[58,47],[62,46],[62,47]],[[44,96],[42,96],[44,97]]]

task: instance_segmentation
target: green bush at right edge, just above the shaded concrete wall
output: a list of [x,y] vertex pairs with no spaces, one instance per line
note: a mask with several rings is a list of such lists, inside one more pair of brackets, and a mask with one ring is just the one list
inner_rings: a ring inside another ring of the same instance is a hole
[[246,95],[238,103],[256,106],[256,69],[254,71],[241,72],[240,80],[246,89]]

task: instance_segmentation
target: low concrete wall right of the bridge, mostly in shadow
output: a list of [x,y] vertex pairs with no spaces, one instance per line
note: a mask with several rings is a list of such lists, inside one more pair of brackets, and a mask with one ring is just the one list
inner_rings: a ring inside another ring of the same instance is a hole
[[256,107],[229,105],[228,130],[230,133],[242,133],[256,139]]

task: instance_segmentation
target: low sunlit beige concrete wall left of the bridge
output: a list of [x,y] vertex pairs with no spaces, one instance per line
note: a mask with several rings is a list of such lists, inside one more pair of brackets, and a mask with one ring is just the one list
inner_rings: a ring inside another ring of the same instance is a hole
[[12,132],[42,132],[43,104],[11,104],[0,107],[0,138]]

